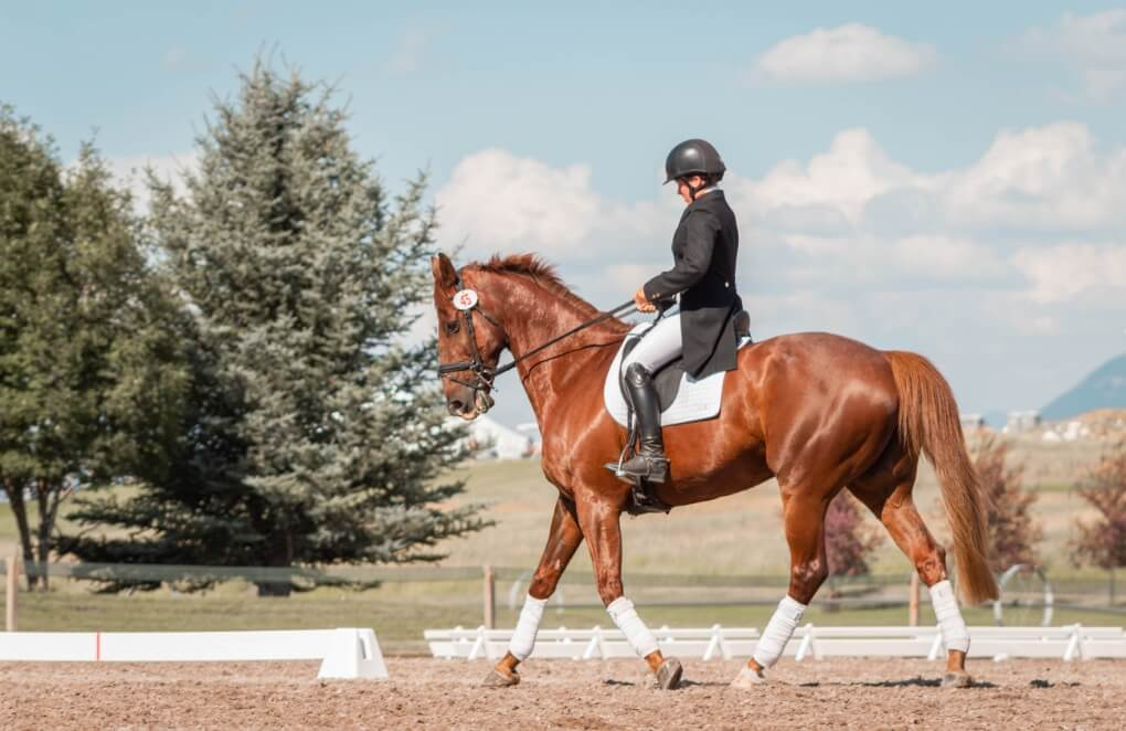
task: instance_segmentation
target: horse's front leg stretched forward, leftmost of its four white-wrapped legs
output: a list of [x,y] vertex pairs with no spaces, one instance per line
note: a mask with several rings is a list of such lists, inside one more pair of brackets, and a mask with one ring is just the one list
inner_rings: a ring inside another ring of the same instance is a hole
[[575,518],[574,503],[562,496],[555,501],[552,514],[552,527],[547,534],[547,545],[539,558],[539,567],[528,586],[528,596],[524,600],[520,618],[509,642],[508,652],[500,662],[485,676],[484,685],[491,687],[510,686],[520,681],[516,666],[531,654],[536,647],[536,632],[544,616],[544,606],[555,592],[555,587],[563,576],[563,570],[571,562],[571,556],[582,543],[582,531]]

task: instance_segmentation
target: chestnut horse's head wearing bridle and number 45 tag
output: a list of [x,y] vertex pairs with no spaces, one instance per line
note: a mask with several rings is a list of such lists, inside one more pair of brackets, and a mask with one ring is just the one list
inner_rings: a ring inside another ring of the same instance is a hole
[[446,408],[468,421],[493,404],[493,369],[506,347],[504,331],[482,309],[482,293],[462,279],[449,257],[432,257],[430,268],[438,315],[438,373]]

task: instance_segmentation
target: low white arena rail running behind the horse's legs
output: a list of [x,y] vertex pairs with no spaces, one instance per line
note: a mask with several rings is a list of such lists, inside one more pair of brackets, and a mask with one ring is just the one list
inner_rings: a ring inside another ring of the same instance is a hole
[[[682,658],[745,658],[754,651],[759,631],[754,627],[670,629],[653,631],[662,652]],[[423,633],[436,658],[468,660],[497,659],[508,650],[511,630],[427,630]],[[969,627],[971,657],[1126,658],[1126,631],[1123,627]],[[938,627],[798,627],[786,645],[786,654],[801,661],[813,657],[945,657]],[[536,635],[535,658],[593,660],[633,658],[634,651],[618,630],[540,630]]]

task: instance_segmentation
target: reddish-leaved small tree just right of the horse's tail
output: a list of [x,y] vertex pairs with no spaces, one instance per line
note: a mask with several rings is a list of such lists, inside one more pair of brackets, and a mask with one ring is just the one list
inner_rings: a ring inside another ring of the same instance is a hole
[[974,469],[986,498],[991,568],[1000,573],[1016,563],[1037,563],[1036,543],[1043,536],[1033,519],[1036,493],[1025,489],[1022,465],[1009,465],[1009,443],[985,435],[974,451]]

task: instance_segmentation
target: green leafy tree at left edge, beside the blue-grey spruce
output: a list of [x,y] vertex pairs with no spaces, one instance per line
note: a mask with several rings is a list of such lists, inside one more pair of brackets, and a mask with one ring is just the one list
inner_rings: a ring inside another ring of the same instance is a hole
[[164,462],[186,381],[128,196],[92,146],[64,173],[0,109],[0,480],[45,585],[63,498]]

